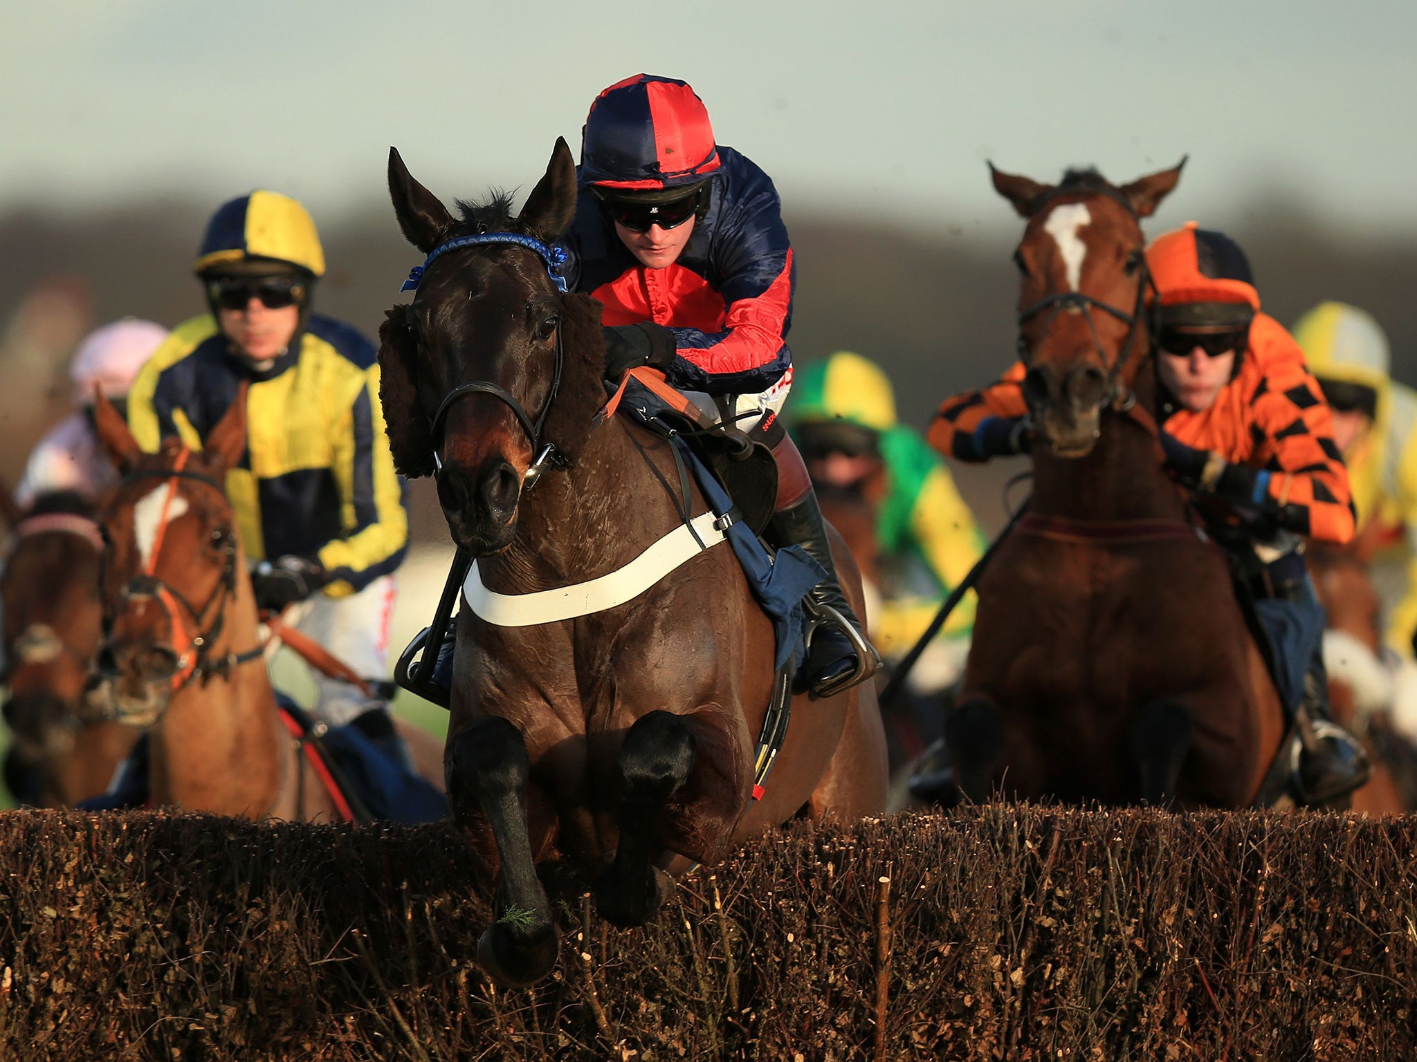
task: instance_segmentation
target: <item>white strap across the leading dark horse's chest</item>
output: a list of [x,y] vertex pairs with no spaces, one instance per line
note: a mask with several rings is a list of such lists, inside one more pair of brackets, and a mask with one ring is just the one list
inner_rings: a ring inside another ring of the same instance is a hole
[[623,568],[554,590],[495,593],[482,585],[478,562],[473,561],[462,596],[475,616],[497,627],[533,627],[614,609],[642,595],[689,558],[718,545],[726,535],[714,525],[717,520],[713,513],[694,517],[690,524],[699,538],[689,525],[680,524]]

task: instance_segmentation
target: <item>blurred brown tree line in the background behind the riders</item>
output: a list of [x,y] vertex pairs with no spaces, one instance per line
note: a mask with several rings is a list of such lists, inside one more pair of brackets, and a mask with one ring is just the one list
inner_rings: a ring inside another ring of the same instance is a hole
[[[150,201],[62,214],[0,215],[0,474],[10,483],[38,435],[67,408],[64,371],[88,327],[122,316],[174,326],[204,312],[191,261],[210,204]],[[316,221],[329,275],[320,312],[376,336],[383,312],[419,261],[387,205]],[[1372,312],[1393,340],[1399,378],[1417,381],[1417,238],[1353,235],[1284,195],[1257,197],[1229,231],[1248,251],[1265,310],[1284,324],[1322,299]],[[924,426],[945,395],[988,382],[1013,355],[1022,225],[969,232],[915,231],[863,217],[788,212],[799,285],[795,358],[856,350],[896,381],[901,419]],[[1152,224],[1149,232],[1161,231]],[[998,527],[1002,470],[964,470],[961,487],[982,523]],[[415,532],[445,532],[425,484]]]

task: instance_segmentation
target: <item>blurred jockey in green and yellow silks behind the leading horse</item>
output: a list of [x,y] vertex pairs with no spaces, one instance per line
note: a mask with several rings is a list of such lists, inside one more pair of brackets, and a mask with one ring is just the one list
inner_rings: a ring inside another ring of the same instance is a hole
[[[886,374],[860,354],[839,351],[796,371],[789,425],[813,483],[860,490],[876,504],[876,547],[884,585],[871,639],[887,658],[908,651],[944,598],[983,551],[973,514],[920,432],[896,421]],[[942,637],[966,644],[969,592]]]

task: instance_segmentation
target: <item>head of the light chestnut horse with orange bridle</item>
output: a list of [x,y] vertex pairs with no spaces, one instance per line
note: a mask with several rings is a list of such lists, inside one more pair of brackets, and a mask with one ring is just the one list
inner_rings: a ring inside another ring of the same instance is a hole
[[201,450],[164,439],[143,453],[105,401],[99,439],[122,480],[102,511],[105,639],[94,697],[132,725],[153,724],[170,695],[205,674],[242,564],[225,474],[247,446],[247,389]]

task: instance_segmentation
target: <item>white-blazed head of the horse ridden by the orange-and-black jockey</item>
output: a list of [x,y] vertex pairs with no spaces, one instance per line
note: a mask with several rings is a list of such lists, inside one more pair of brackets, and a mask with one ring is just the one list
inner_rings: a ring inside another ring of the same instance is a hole
[[1029,219],[1015,252],[1023,396],[1058,457],[1093,450],[1105,405],[1125,409],[1149,344],[1139,219],[1180,180],[1185,160],[1121,188],[1095,170],[1057,185],[989,167],[993,187]]

